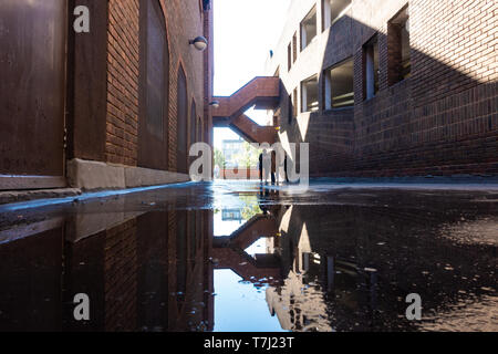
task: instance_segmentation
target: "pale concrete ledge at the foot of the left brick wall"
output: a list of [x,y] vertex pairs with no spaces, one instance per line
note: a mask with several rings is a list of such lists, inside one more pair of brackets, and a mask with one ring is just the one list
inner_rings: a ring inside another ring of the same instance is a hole
[[115,166],[72,159],[68,163],[68,181],[82,190],[125,189],[189,181],[185,174],[142,167]]

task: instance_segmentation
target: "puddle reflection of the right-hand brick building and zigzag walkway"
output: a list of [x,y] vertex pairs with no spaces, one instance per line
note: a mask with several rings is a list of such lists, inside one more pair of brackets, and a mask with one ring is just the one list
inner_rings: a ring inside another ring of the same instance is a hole
[[[447,208],[443,198],[403,210],[276,206],[268,191],[261,197],[261,214],[215,238],[212,254],[217,269],[266,289],[283,330],[498,329],[492,204]],[[250,257],[248,246],[261,238],[266,252]],[[422,322],[405,316],[409,293],[423,299]]]

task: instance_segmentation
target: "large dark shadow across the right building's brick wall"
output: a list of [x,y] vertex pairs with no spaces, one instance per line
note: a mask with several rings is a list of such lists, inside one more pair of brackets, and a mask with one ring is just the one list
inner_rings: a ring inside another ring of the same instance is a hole
[[[374,35],[378,92],[364,100],[363,45]],[[396,39],[347,15],[328,30],[326,43],[318,73],[319,112],[300,114],[300,123],[292,118],[280,131],[291,142],[310,143],[312,176],[498,174],[498,83],[491,80],[492,70],[476,80],[475,72],[466,74],[445,58],[412,48],[409,77],[390,83],[394,59],[388,51]],[[324,71],[349,59],[354,61],[354,107],[325,110]],[[282,85],[284,122],[293,108],[290,95]]]

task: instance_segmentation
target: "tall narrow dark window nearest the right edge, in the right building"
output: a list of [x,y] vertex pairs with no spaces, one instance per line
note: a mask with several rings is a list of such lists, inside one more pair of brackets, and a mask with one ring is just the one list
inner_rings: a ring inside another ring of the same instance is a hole
[[409,48],[409,12],[403,9],[387,25],[388,83],[394,85],[412,73]]

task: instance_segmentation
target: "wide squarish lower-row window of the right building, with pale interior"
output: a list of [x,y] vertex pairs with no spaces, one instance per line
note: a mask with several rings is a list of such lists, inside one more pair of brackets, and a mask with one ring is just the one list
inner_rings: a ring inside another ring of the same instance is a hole
[[354,105],[354,63],[349,59],[324,72],[325,110],[343,108]]

